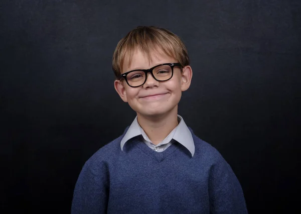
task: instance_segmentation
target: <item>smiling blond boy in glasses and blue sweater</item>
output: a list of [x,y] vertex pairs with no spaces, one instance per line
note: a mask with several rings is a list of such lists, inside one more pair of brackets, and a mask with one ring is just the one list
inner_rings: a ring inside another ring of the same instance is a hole
[[113,70],[117,93],[137,116],[85,163],[71,212],[247,213],[231,167],[178,115],[192,79],[180,38],[137,27],[119,41]]

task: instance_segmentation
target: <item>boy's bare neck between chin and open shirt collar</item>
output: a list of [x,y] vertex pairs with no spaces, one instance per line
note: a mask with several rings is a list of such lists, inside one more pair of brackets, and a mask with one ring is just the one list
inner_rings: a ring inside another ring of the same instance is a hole
[[178,108],[157,116],[142,116],[137,113],[137,121],[149,140],[157,145],[178,126]]

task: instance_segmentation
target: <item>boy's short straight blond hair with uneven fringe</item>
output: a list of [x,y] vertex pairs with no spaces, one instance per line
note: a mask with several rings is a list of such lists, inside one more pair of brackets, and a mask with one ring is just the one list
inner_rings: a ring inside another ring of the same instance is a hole
[[183,67],[189,65],[187,49],[180,37],[164,28],[137,27],[118,42],[114,51],[112,67],[116,78],[121,74],[125,60],[130,65],[136,49],[144,52],[149,61],[155,52],[162,50],[168,56],[178,60]]

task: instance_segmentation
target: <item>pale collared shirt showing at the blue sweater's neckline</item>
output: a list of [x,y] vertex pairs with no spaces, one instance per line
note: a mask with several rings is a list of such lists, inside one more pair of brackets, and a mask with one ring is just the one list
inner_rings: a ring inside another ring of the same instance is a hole
[[168,147],[170,147],[173,144],[172,139],[174,139],[180,144],[182,144],[186,149],[188,149],[188,151],[191,153],[191,156],[193,156],[195,153],[195,145],[192,138],[192,134],[180,115],[178,115],[178,121],[179,120],[180,123],[178,124],[178,126],[175,129],[173,129],[173,131],[171,131],[171,133],[162,142],[160,142],[158,145],[155,145],[152,143],[152,141],[149,140],[144,130],[140,127],[137,121],[137,117],[135,117],[134,121],[132,122],[132,124],[130,125],[130,127],[128,128],[127,132],[121,140],[121,150],[123,150],[124,144],[129,139],[141,135],[143,137],[143,142],[150,149],[153,149],[156,152],[165,151]]

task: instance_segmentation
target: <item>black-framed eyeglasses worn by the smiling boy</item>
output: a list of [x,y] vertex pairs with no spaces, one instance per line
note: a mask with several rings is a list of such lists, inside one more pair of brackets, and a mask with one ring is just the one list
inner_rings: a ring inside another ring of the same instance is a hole
[[128,71],[119,76],[119,79],[124,78],[130,87],[139,87],[146,82],[147,73],[150,72],[154,79],[159,82],[167,81],[174,75],[174,67],[182,67],[181,63],[164,63],[156,65],[149,69],[137,69]]

